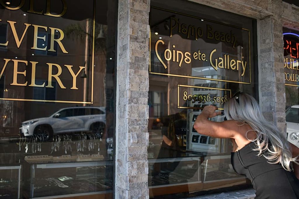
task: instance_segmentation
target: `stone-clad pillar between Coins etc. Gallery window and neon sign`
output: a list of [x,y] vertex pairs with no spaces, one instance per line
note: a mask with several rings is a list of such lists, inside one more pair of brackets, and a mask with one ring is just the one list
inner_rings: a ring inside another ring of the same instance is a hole
[[259,89],[260,106],[268,121],[285,132],[285,85],[281,1],[272,5],[273,15],[259,20]]

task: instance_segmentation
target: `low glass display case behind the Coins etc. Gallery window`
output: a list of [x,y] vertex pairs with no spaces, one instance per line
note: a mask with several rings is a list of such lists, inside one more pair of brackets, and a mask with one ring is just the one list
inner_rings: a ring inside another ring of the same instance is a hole
[[180,158],[149,159],[150,196],[190,193],[247,183],[245,177],[234,172],[230,161],[230,155],[204,156],[192,153],[185,153],[185,157]]

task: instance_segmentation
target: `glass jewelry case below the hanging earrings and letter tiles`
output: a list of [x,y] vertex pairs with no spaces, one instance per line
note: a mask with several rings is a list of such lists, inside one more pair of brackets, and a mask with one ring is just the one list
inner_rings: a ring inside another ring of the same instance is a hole
[[112,194],[112,161],[33,163],[25,198],[106,198]]

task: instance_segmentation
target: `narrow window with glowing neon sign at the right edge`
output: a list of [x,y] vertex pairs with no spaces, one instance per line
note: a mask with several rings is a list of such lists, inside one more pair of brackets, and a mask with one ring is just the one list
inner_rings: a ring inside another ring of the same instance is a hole
[[288,141],[299,147],[299,32],[283,29]]

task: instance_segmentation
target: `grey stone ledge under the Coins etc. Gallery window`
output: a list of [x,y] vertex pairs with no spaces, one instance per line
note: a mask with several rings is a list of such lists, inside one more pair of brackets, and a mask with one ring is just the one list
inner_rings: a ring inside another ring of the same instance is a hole
[[245,189],[234,192],[224,192],[212,195],[203,195],[188,199],[254,199],[255,191],[254,189]]

